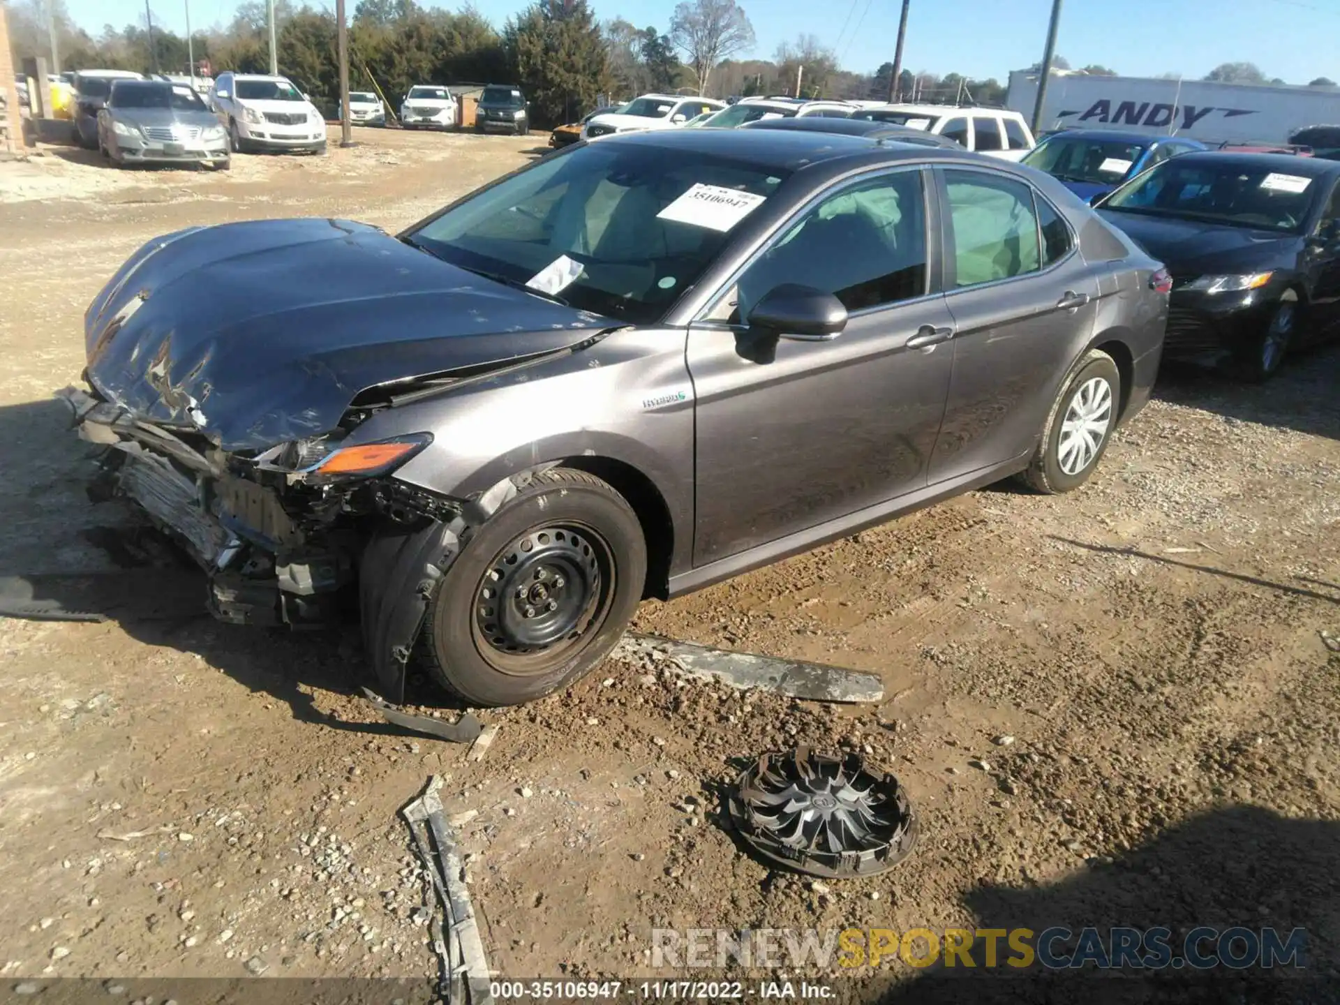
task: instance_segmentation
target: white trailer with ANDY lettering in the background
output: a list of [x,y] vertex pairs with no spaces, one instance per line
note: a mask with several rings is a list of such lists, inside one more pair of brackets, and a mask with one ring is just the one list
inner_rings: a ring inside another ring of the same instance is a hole
[[[1036,100],[1037,74],[1012,72],[1005,103],[1032,122]],[[1285,143],[1319,125],[1340,125],[1340,88],[1053,72],[1040,131],[1120,129],[1211,145]]]

